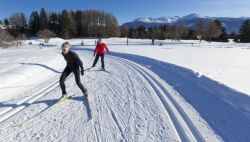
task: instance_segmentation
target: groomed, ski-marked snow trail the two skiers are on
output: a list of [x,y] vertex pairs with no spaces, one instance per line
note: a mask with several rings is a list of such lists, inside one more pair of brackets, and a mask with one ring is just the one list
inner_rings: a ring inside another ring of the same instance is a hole
[[[87,68],[91,53],[83,57],[78,53]],[[201,118],[194,122],[189,117],[178,94],[150,70],[116,56],[106,56],[106,68],[109,72],[89,70],[82,78],[89,106],[73,75],[66,81],[72,99],[63,103],[58,103],[58,75],[30,97],[7,102],[0,111],[0,141],[219,140],[211,138],[212,131]]]

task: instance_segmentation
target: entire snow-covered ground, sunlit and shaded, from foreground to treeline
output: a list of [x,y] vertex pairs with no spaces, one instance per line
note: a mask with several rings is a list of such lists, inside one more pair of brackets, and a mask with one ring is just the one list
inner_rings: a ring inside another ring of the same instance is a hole
[[[82,78],[89,103],[73,75],[58,103],[64,40],[0,49],[0,141],[250,140],[250,44],[103,40],[107,72]],[[95,39],[69,42],[90,67]]]

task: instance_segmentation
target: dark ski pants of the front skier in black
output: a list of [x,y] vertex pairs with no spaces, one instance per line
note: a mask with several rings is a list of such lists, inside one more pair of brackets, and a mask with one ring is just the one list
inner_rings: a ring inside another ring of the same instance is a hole
[[61,77],[60,77],[60,87],[62,89],[62,94],[66,94],[66,88],[65,88],[65,84],[64,84],[64,81],[65,79],[71,74],[71,73],[74,73],[74,76],[75,76],[75,81],[76,81],[76,84],[77,86],[81,89],[82,93],[84,94],[87,89],[84,88],[84,86],[82,85],[81,83],[81,79],[80,79],[80,70],[79,68],[70,68],[68,66],[66,66],[66,68],[64,69]]

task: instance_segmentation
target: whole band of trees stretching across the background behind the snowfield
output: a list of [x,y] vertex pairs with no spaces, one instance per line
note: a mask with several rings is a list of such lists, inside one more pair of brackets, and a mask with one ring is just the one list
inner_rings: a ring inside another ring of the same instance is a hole
[[[27,20],[29,19],[29,20]],[[61,38],[97,38],[97,37],[128,37],[150,39],[203,39],[207,41],[227,42],[229,38],[236,42],[250,42],[250,21],[246,20],[240,31],[227,34],[219,20],[196,23],[195,29],[185,25],[162,25],[158,27],[128,28],[119,26],[118,20],[112,14],[98,10],[77,10],[62,12],[33,11],[29,18],[23,13],[14,13],[3,22],[9,26],[9,33],[15,38],[32,36]],[[0,23],[0,24],[1,24]]]

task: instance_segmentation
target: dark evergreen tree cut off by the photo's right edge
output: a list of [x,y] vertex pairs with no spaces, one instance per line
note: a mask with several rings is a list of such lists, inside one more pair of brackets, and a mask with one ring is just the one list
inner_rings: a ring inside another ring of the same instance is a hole
[[250,42],[250,20],[246,20],[240,28],[240,42]]

